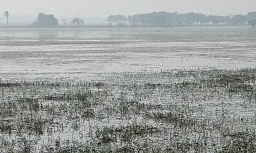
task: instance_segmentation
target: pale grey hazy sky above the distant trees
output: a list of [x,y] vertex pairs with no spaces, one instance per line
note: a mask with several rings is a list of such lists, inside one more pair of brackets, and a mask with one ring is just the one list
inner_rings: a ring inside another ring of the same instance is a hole
[[111,14],[132,15],[150,11],[195,11],[207,15],[228,15],[256,11],[256,0],[0,0],[0,11],[13,15],[106,17]]

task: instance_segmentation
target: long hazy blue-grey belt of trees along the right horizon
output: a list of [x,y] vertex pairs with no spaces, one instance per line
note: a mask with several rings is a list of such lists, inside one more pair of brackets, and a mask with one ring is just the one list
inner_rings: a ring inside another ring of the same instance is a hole
[[148,27],[175,27],[188,25],[256,25],[256,12],[233,17],[204,15],[202,13],[153,12],[125,17],[110,15],[109,25],[132,25]]

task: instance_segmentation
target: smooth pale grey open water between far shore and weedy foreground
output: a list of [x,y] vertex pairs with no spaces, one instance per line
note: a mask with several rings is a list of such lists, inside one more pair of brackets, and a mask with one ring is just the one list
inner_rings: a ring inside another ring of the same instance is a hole
[[250,27],[0,29],[2,77],[256,66]]

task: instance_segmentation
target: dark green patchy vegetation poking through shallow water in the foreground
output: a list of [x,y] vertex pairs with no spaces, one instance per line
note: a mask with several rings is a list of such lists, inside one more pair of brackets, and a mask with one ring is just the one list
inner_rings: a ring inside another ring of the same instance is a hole
[[256,69],[0,81],[1,152],[255,152]]

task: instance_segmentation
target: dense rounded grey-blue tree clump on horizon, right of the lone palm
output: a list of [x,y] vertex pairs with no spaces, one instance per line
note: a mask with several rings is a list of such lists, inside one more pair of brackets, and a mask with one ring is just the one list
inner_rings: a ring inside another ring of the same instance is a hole
[[56,27],[58,26],[58,20],[54,17],[54,15],[45,15],[44,13],[39,13],[37,20],[33,22],[33,26]]

